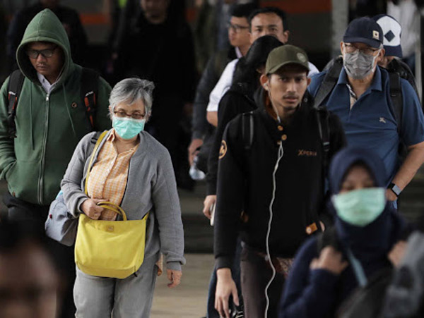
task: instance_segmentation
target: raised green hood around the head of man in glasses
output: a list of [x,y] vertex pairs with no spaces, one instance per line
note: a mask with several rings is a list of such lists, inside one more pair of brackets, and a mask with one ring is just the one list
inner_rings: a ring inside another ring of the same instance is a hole
[[59,18],[51,10],[45,9],[37,13],[33,20],[31,20],[25,29],[23,39],[16,51],[16,61],[18,61],[20,71],[30,80],[37,81],[35,68],[33,68],[30,59],[25,53],[25,47],[30,42],[51,42],[57,44],[64,53],[64,66],[59,80],[63,80],[71,73],[73,62],[71,59],[69,38]]

